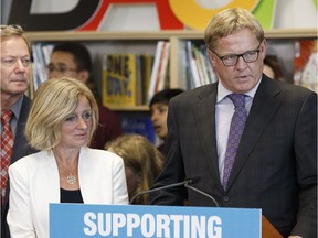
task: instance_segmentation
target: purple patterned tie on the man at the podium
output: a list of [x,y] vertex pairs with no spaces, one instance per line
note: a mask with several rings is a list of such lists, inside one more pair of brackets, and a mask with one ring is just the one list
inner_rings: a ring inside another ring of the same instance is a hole
[[245,95],[231,94],[227,97],[233,101],[235,106],[235,111],[231,121],[225,160],[224,160],[224,173],[222,183],[224,191],[227,186],[227,181],[231,174],[231,170],[233,167],[236,151],[247,118],[247,111],[245,109]]

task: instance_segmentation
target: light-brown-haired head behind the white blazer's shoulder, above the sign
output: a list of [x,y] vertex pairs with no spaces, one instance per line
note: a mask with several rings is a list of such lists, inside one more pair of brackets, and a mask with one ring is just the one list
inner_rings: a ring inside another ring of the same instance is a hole
[[[124,160],[129,199],[148,191],[162,169],[163,155],[144,136],[120,136],[108,142],[105,149]],[[137,197],[134,204],[148,204],[148,195]]]

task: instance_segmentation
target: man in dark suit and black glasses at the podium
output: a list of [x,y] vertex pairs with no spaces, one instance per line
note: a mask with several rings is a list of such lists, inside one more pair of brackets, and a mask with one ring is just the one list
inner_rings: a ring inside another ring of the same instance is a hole
[[[221,207],[262,208],[284,237],[315,238],[317,94],[262,74],[266,41],[246,10],[215,14],[205,44],[219,82],[170,100],[167,159],[153,187],[192,177],[193,186]],[[244,130],[236,138],[239,148],[231,151],[234,164],[227,180],[232,94],[243,95],[247,118],[245,126],[240,120]],[[182,205],[184,199],[190,206],[215,206],[184,187],[150,194],[150,204],[157,205]]]

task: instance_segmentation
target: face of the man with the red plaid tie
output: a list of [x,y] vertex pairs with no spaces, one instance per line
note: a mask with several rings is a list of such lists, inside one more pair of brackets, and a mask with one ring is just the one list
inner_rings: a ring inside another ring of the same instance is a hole
[[31,56],[19,36],[1,39],[1,96],[20,96],[28,90]]

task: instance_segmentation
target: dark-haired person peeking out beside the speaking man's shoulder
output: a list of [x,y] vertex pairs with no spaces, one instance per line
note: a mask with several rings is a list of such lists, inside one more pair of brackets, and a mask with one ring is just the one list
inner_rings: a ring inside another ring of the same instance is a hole
[[168,115],[168,105],[172,97],[183,93],[182,89],[163,89],[153,95],[150,100],[150,116],[151,122],[153,125],[156,134],[161,139],[162,143],[158,145],[158,150],[165,154],[165,141],[168,134],[167,128],[167,115]]

